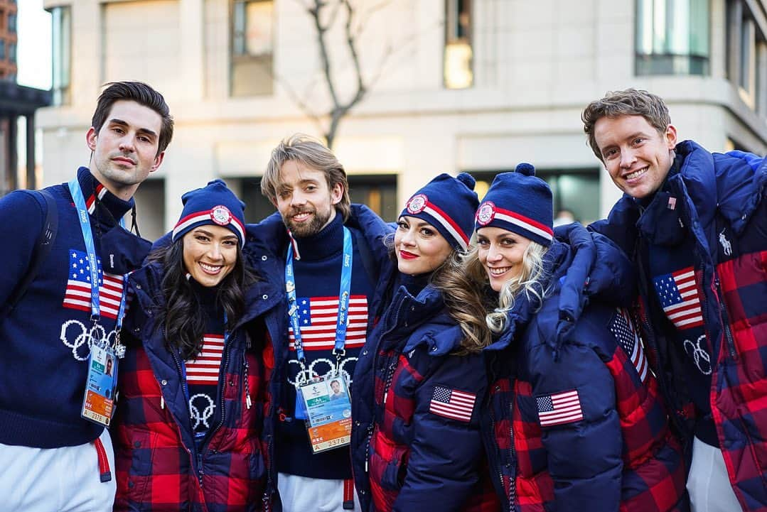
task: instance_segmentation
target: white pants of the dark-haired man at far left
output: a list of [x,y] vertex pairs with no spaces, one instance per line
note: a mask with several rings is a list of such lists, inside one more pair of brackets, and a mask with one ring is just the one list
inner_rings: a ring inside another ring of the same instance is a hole
[[0,512],[109,512],[114,504],[114,450],[100,436],[112,479],[100,480],[94,443],[63,448],[0,444]]

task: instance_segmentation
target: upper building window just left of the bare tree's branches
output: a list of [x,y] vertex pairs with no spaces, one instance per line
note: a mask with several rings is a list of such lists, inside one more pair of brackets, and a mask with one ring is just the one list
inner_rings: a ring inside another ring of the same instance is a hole
[[232,3],[232,96],[272,94],[274,2]]

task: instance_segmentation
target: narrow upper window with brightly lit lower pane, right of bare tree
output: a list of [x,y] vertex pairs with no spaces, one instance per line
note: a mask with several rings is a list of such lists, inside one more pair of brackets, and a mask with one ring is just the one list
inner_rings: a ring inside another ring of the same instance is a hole
[[445,2],[444,83],[448,89],[466,89],[474,84],[472,50],[472,1]]

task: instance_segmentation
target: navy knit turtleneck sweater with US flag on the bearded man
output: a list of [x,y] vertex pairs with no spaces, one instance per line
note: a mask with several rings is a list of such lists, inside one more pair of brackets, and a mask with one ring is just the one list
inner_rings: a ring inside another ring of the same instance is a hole
[[[297,238],[301,260],[294,260],[296,297],[300,306],[301,337],[304,343],[306,365],[314,374],[324,375],[335,362],[332,354],[338,311],[338,288],[341,281],[341,256],[344,252],[343,218],[334,220],[317,235]],[[367,307],[374,285],[365,273],[354,237],[352,238],[351,300],[346,354],[341,369],[351,384],[354,363],[365,341]],[[303,420],[293,418],[295,408],[295,378],[298,362],[290,331],[291,360],[288,363],[288,385],[281,396],[283,414],[278,428],[278,471],[309,478],[351,478],[349,448],[336,448],[313,455]]]

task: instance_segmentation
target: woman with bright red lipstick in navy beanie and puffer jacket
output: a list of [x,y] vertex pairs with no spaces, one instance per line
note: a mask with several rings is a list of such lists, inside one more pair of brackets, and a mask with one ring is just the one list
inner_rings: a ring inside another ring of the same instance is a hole
[[472,284],[460,261],[478,204],[473,189],[469,174],[437,176],[397,222],[393,297],[351,389],[352,464],[365,512],[498,507],[479,433],[489,330],[482,307],[467,307]]

